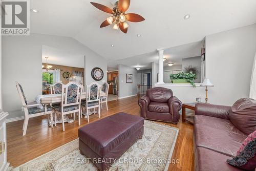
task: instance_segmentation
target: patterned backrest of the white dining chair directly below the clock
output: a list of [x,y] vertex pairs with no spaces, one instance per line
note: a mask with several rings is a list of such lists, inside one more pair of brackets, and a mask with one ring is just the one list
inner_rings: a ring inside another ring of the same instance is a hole
[[101,85],[97,82],[92,82],[86,86],[86,99],[87,102],[99,101]]

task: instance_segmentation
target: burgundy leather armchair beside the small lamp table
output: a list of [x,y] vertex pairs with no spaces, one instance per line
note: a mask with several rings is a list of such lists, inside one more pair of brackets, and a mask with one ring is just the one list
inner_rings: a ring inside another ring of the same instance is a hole
[[182,102],[170,89],[156,87],[148,89],[146,95],[138,101],[140,116],[148,120],[157,120],[177,124],[180,119],[179,111]]

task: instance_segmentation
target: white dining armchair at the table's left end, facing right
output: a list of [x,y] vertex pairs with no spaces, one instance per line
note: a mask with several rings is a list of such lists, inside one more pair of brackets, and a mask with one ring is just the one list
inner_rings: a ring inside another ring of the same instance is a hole
[[[35,101],[28,102],[26,99],[26,96],[24,94],[22,86],[17,81],[16,81],[16,88],[17,88],[19,97],[22,100],[22,106],[24,108],[24,113],[25,113],[25,119],[23,122],[23,129],[22,129],[23,136],[26,135],[29,118],[42,116],[42,115],[48,115],[48,118],[49,118],[49,114],[50,114],[51,127],[53,127],[53,124],[52,124],[53,123],[53,109],[52,109],[52,107],[50,105],[38,104]],[[37,108],[39,105],[43,105],[44,108],[43,109]],[[55,123],[56,123],[56,119],[55,119]]]

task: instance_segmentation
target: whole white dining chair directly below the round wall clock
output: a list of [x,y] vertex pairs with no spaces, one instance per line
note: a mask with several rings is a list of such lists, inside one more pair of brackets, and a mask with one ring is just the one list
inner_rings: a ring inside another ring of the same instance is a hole
[[[89,122],[89,109],[95,109],[98,108],[98,114],[100,118],[100,92],[101,92],[101,85],[97,82],[92,82],[91,84],[86,86],[86,101],[84,101],[81,104],[81,113],[82,109],[86,110],[87,114],[87,121]],[[85,116],[84,116],[85,118]]]

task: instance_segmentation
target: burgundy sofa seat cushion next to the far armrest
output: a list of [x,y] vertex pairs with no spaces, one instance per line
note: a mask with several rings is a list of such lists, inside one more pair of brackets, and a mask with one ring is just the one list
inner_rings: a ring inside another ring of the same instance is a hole
[[[199,122],[200,120],[200,122]],[[204,147],[234,157],[247,135],[234,128],[229,120],[196,115],[194,135],[196,147]]]

